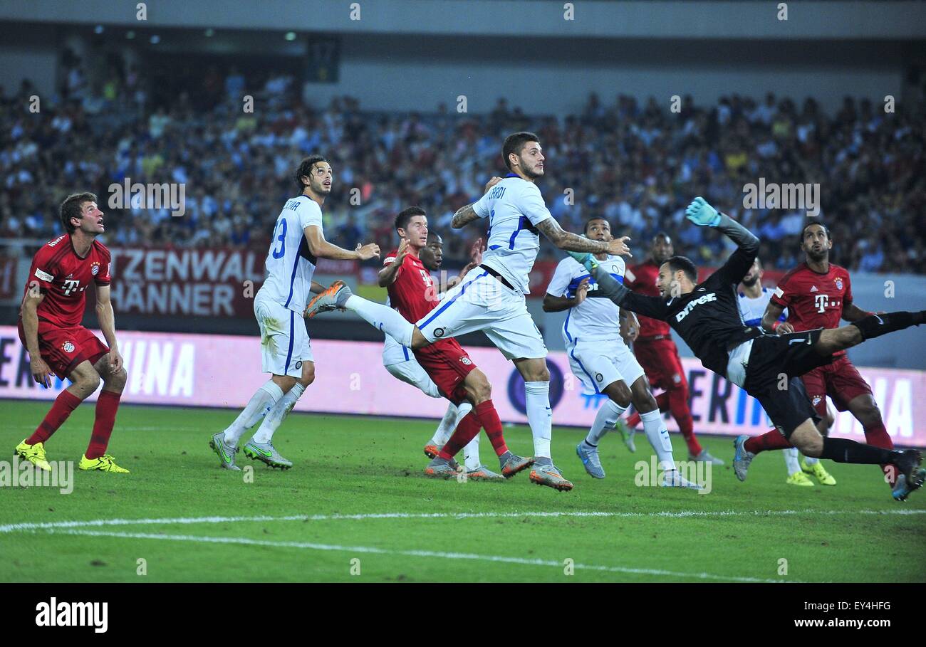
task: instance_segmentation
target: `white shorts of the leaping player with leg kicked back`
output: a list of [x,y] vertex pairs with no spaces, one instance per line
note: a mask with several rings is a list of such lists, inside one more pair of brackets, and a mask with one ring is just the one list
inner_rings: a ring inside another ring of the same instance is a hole
[[472,268],[448,290],[418,328],[429,342],[482,330],[507,359],[546,356],[544,338],[527,311],[524,295],[482,268]]

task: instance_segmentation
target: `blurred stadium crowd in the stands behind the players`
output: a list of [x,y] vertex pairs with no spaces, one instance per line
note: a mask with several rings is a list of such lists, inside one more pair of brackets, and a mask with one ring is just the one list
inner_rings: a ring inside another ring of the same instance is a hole
[[[565,117],[528,116],[499,99],[485,115],[438,106],[429,114],[361,109],[350,97],[313,106],[286,75],[248,79],[253,112],[244,112],[244,75],[217,70],[195,103],[181,92],[157,99],[137,70],[113,71],[89,87],[77,63],[54,99],[29,110],[33,88],[0,92],[0,236],[50,238],[60,230],[57,205],[89,189],[107,215],[106,243],[265,247],[273,222],[296,190],[301,156],[322,153],[336,182],[325,205],[329,239],[352,247],[374,240],[394,246],[394,214],[421,205],[444,234],[445,255],[461,259],[480,231],[448,236],[455,210],[504,175],[504,136],[536,131],[547,156],[539,182],[553,215],[582,230],[605,216],[632,236],[642,254],[658,230],[699,263],[725,257],[725,239],[687,227],[683,208],[695,195],[722,205],[755,230],[768,265],[789,268],[803,210],[745,209],[749,182],[819,183],[819,218],[832,230],[833,259],[850,269],[926,273],[924,106],[898,103],[894,113],[845,98],[835,114],[813,99],[798,106],[769,94],[731,95],[717,106],[684,97],[675,112],[650,99],[596,95]],[[204,102],[203,96],[207,100]],[[109,187],[131,182],[185,185],[185,214],[169,207],[108,205]],[[544,245],[542,256],[555,256]]]

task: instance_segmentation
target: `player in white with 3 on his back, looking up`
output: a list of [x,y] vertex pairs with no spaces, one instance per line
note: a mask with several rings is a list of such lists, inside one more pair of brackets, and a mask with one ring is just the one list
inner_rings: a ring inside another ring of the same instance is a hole
[[273,447],[271,439],[315,379],[306,322],[300,315],[306,309],[309,293],[324,290],[312,280],[317,259],[366,260],[380,255],[380,248],[373,243],[358,244],[355,251],[350,251],[325,240],[321,205],[332,192],[332,167],[324,157],[315,155],[302,160],[295,180],[302,193],[287,200],[277,218],[265,262],[267,280],[254,299],[263,369],[272,377],[251,396],[234,422],[209,441],[226,469],[240,469],[235,465],[238,440],[262,417],[254,437],[244,445],[244,455],[270,467],[293,467]]

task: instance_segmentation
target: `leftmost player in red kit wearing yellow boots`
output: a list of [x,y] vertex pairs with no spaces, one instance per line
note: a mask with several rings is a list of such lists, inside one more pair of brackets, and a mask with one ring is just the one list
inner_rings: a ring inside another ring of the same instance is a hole
[[[19,311],[19,340],[29,351],[36,382],[50,388],[54,373],[73,383],[57,396],[42,424],[19,443],[16,453],[50,470],[44,443],[102,380],[90,445],[78,467],[127,473],[106,454],[127,376],[109,303],[109,250],[95,240],[104,231],[103,212],[93,193],[74,193],[61,204],[60,216],[67,233],[46,243],[32,258]],[[85,291],[91,284],[96,286],[96,317],[108,346],[81,326]]]

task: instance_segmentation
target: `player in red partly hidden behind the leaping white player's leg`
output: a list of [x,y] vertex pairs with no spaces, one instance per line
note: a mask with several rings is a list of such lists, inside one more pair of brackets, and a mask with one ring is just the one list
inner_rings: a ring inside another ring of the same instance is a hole
[[[428,243],[428,218],[424,209],[410,206],[395,217],[395,231],[402,242],[387,254],[380,270],[380,285],[387,286],[389,303],[407,321],[415,322],[427,316],[438,304],[434,281],[419,253]],[[447,400],[460,404],[468,400],[472,411],[457,425],[450,440],[425,469],[435,477],[456,477],[454,455],[471,441],[480,429],[485,429],[492,442],[502,476],[513,477],[522,469],[531,467],[531,458],[512,454],[505,444],[502,421],[492,403],[492,385],[485,374],[472,363],[457,340],[440,339],[414,350],[415,359]]]

